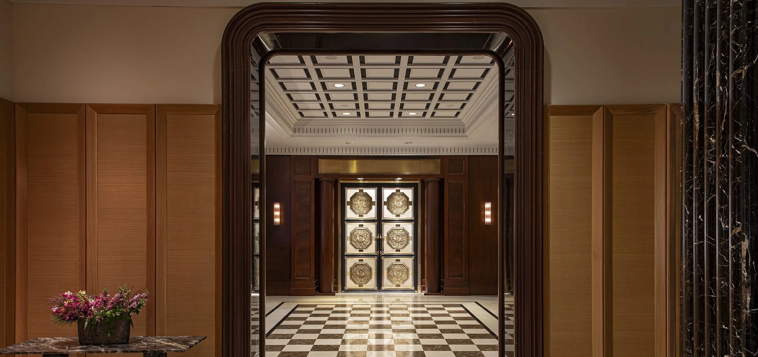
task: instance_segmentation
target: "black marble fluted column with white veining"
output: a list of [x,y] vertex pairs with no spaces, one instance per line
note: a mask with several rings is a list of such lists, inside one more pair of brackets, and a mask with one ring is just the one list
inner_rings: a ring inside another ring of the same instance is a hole
[[756,1],[684,0],[681,355],[748,356],[756,334]]

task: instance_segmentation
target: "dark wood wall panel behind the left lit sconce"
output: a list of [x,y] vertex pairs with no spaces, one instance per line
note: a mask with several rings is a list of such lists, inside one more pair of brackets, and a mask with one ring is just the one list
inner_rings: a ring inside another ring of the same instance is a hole
[[290,255],[292,239],[292,156],[266,156],[266,212],[281,204],[282,224],[274,226],[271,217],[262,217],[266,224],[266,295],[290,295]]

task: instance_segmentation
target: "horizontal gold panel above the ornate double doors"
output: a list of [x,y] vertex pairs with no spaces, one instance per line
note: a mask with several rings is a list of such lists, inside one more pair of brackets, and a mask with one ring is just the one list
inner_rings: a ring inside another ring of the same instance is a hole
[[424,159],[327,159],[318,160],[319,174],[440,174],[439,158]]

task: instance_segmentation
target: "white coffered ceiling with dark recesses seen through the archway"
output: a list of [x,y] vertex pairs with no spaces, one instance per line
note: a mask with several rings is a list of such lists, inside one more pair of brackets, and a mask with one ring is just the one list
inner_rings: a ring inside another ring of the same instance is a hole
[[268,153],[496,154],[499,76],[489,55],[279,55],[266,68]]

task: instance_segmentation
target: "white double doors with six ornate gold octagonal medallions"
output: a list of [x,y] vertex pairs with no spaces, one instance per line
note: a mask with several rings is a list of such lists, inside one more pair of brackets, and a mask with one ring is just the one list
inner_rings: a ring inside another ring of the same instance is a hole
[[343,291],[415,291],[418,183],[343,183]]

